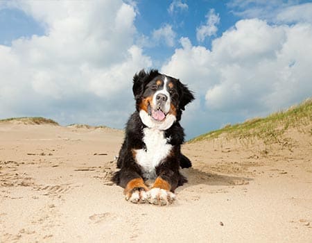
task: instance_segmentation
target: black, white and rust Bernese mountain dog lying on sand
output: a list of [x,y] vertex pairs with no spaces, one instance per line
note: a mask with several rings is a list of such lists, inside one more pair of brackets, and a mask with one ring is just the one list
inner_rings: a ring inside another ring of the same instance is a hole
[[[194,97],[179,79],[155,69],[135,74],[132,91],[136,111],[126,124],[117,160],[120,170],[112,181],[132,203],[167,205],[175,200],[175,188],[187,182],[180,167],[191,167],[181,153],[184,130],[179,121]],[[146,185],[149,180],[155,180],[151,187]]]

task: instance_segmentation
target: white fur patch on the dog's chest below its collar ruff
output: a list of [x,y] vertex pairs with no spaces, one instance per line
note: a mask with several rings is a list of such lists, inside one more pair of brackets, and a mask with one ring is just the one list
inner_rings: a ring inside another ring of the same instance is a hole
[[144,177],[154,179],[156,177],[155,167],[168,156],[172,145],[167,144],[164,131],[155,128],[144,128],[143,131],[143,141],[146,144],[146,150],[137,149],[136,160],[144,169]]

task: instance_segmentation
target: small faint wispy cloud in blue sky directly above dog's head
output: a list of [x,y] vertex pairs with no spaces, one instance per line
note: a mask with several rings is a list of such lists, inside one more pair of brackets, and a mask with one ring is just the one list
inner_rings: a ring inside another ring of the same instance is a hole
[[164,26],[153,31],[153,42],[164,42],[168,47],[175,45],[175,31],[173,31],[171,24],[164,24]]

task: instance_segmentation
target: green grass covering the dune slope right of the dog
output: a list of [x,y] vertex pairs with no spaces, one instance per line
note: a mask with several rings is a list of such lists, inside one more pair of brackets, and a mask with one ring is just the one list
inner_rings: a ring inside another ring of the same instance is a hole
[[[258,137],[274,142],[288,128],[299,128],[309,124],[312,124],[312,98],[300,103],[300,105],[292,106],[288,110],[275,112],[265,118],[249,119],[241,124],[227,125],[219,130],[195,137],[189,142],[211,140],[220,137],[220,135],[229,138]],[[312,128],[310,128],[309,133],[312,135]]]

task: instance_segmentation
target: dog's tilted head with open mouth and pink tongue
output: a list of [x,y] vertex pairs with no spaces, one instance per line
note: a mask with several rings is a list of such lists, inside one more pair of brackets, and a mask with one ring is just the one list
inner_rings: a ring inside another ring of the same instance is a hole
[[133,77],[137,111],[149,128],[166,130],[181,119],[182,110],[193,101],[193,94],[179,79],[157,70],[141,70]]

